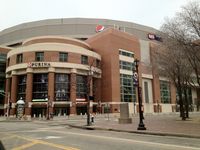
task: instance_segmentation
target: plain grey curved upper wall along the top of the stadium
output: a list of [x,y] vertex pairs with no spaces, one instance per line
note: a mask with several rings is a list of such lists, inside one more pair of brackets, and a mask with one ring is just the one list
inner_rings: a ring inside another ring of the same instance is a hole
[[151,27],[125,21],[86,18],[50,19],[24,23],[5,29],[0,32],[0,44],[12,45],[20,43],[27,38],[46,35],[87,39],[96,33],[95,28],[97,25],[119,29],[143,40],[148,40],[148,33],[157,32]]

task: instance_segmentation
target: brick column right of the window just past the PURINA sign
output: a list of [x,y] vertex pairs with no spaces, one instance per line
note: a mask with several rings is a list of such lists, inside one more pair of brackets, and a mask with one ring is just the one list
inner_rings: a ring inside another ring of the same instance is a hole
[[76,114],[76,70],[72,69],[70,76],[70,114]]

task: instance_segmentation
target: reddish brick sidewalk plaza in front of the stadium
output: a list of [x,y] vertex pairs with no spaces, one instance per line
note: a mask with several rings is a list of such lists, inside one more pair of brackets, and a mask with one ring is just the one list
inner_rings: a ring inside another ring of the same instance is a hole
[[190,118],[186,121],[182,121],[178,114],[146,115],[144,124],[147,130],[137,130],[139,118],[138,116],[132,118],[132,124],[119,124],[118,117],[110,117],[108,120],[106,116],[97,116],[91,126],[86,126],[86,118],[79,120],[69,118],[63,121],[71,127],[91,130],[200,138],[200,113],[190,114]]

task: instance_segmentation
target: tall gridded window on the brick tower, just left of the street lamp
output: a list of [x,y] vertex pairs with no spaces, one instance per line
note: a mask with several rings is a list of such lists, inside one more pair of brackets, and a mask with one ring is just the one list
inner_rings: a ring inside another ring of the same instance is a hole
[[133,86],[133,79],[131,75],[120,74],[121,83],[121,101],[133,102],[136,101],[136,91]]

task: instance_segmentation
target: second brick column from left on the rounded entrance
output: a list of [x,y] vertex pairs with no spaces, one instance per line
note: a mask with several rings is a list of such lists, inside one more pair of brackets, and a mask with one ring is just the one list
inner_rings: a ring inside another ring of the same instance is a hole
[[12,108],[10,109],[10,115],[16,115],[16,102],[17,102],[17,85],[18,85],[18,77],[14,72],[12,73],[12,83],[11,83],[11,99]]

